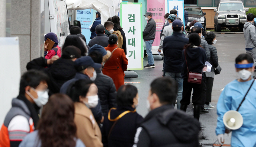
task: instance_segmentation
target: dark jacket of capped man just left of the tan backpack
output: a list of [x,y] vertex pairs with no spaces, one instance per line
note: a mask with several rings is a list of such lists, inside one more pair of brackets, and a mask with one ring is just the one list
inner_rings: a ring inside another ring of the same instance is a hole
[[93,45],[101,45],[102,47],[108,46],[108,37],[106,37],[104,34],[98,34],[96,37],[92,38],[92,40],[89,41],[88,46],[92,47]]

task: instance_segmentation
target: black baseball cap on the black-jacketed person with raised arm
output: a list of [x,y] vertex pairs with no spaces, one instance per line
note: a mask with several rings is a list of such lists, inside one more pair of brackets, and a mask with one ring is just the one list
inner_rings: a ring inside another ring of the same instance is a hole
[[78,47],[69,45],[63,49],[61,57],[63,59],[80,58],[81,51],[80,51],[80,49],[78,49]]

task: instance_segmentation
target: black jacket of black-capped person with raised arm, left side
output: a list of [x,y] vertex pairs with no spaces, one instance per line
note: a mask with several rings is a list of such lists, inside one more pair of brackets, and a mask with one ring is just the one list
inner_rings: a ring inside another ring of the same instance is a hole
[[43,70],[50,78],[50,83],[48,84],[49,94],[59,93],[62,84],[74,78],[76,74],[74,61],[60,58],[54,61],[48,68],[44,68],[47,66],[46,61],[47,59],[43,57],[34,59],[27,64],[27,70]]

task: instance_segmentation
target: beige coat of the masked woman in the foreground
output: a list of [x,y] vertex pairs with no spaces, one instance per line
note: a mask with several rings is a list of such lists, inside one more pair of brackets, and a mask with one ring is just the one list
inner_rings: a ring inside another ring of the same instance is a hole
[[77,127],[77,137],[84,142],[86,147],[103,147],[101,132],[92,111],[82,102],[75,102],[74,122]]

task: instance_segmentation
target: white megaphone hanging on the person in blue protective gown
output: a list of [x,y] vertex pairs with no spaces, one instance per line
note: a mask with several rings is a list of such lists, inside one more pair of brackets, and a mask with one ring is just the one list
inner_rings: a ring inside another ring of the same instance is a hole
[[223,122],[226,128],[230,130],[236,130],[242,127],[244,119],[239,112],[230,110],[224,114]]

